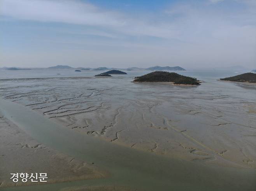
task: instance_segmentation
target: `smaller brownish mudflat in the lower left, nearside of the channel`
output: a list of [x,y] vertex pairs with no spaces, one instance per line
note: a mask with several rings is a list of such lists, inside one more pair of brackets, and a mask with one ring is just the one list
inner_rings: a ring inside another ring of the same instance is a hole
[[[0,116],[0,188],[49,184],[108,176],[93,164],[68,157],[30,138],[15,124]],[[47,182],[12,182],[10,173],[45,173]]]

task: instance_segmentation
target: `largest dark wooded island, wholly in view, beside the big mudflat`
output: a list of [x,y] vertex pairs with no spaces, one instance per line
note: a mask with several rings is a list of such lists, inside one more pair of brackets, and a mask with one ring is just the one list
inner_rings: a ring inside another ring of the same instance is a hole
[[163,71],[151,72],[143,76],[135,77],[134,82],[172,82],[181,85],[199,85],[199,81],[194,77]]

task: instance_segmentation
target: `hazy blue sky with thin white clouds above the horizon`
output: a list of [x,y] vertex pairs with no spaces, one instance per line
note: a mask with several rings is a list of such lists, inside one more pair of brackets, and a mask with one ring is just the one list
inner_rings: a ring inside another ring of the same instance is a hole
[[256,0],[0,0],[0,67],[256,68]]

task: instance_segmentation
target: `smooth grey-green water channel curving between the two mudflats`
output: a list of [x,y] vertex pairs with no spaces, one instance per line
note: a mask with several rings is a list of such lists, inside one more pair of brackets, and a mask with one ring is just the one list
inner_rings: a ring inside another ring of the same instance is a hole
[[[107,179],[77,181],[3,188],[1,190],[56,190],[74,185],[115,184],[144,190],[254,190],[255,170],[228,167],[208,167],[204,164],[171,159],[67,130],[42,115],[21,105],[0,101],[2,113],[25,132],[63,153],[102,167],[112,174]],[[28,117],[30,120],[27,120]]]

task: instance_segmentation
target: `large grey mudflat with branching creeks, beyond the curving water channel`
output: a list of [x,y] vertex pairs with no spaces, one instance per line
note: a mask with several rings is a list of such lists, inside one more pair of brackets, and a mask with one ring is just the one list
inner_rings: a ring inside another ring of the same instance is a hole
[[112,143],[195,162],[256,167],[253,99],[233,95],[233,87],[207,88],[209,83],[180,87],[130,81],[12,80],[2,81],[0,93],[69,129]]

